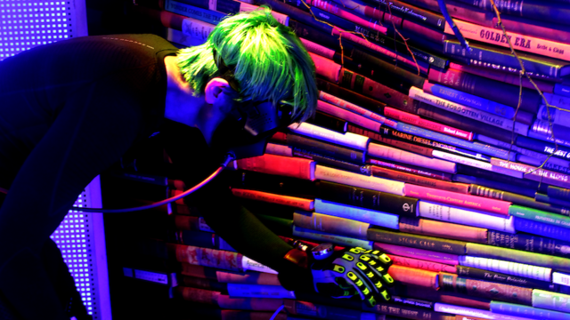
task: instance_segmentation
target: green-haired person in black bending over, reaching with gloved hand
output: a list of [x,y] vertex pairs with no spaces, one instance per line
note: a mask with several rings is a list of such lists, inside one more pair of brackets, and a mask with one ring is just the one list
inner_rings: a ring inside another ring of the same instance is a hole
[[[178,50],[153,35],[85,36],[0,62],[0,188],[9,189],[0,197],[0,318],[89,318],[50,235],[129,148],[164,135],[192,186],[228,150],[263,150],[251,146],[312,116],[316,100],[313,61],[267,8],[222,20],[196,47]],[[183,143],[168,142],[175,140]],[[265,228],[224,179],[191,201],[289,290],[389,299],[390,261],[379,252],[353,248],[314,260]]]

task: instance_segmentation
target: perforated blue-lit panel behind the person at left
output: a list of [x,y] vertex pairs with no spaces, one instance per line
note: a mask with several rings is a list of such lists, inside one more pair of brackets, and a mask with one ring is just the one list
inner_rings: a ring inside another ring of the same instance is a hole
[[[0,63],[42,44],[87,36],[85,0],[0,0]],[[101,208],[99,177],[77,197],[77,210],[51,236],[75,279],[85,307],[94,320],[110,320],[109,276],[101,213],[80,207]]]

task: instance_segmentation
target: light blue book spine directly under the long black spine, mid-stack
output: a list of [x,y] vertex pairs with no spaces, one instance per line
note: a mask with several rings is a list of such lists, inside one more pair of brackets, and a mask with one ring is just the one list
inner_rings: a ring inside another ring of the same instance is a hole
[[400,228],[396,214],[363,209],[348,204],[338,204],[322,199],[314,199],[314,212],[362,221],[384,228],[396,230]]

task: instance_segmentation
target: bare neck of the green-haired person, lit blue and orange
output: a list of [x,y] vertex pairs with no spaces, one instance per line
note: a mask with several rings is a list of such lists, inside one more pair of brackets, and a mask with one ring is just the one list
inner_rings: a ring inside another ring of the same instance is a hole
[[219,115],[213,114],[215,110],[206,106],[203,97],[192,95],[191,85],[183,78],[175,56],[165,57],[164,62],[167,68],[167,100],[164,117],[198,128],[209,144],[219,124],[217,119]]

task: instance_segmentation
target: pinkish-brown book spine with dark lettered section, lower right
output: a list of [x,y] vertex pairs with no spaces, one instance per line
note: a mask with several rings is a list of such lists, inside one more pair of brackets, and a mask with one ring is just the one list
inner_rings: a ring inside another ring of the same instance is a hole
[[503,300],[532,305],[533,289],[509,284],[496,284],[462,276],[439,273],[439,288],[485,299]]

